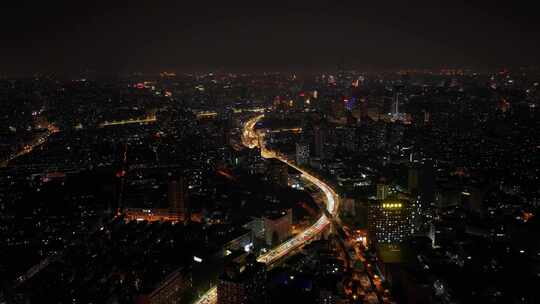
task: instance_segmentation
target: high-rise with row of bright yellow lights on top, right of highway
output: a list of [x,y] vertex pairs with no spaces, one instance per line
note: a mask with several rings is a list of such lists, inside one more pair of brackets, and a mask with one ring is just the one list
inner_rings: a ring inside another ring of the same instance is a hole
[[371,244],[399,244],[411,235],[410,206],[405,200],[372,201],[368,206]]

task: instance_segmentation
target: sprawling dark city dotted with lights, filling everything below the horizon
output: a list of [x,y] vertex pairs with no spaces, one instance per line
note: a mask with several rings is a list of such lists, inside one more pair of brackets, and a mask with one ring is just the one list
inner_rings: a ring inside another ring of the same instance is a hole
[[0,299],[533,303],[538,75],[4,80]]

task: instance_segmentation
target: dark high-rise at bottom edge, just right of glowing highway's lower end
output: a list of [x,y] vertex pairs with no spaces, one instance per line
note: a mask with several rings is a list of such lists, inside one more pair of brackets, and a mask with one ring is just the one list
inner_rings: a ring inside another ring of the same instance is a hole
[[228,265],[219,278],[217,303],[266,303],[266,265],[255,258]]

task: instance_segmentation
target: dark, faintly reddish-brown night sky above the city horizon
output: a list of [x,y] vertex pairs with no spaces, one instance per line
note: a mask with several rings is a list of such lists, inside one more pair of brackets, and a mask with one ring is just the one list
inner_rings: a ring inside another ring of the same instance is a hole
[[0,75],[540,62],[524,1],[3,2]]

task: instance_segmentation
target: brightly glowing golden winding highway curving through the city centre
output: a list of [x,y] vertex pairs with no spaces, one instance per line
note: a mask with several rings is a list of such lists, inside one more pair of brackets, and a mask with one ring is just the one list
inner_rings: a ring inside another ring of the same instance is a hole
[[[289,160],[280,156],[278,153],[273,151],[268,151],[264,147],[264,142],[257,131],[255,131],[255,125],[264,117],[264,114],[256,116],[248,120],[244,125],[244,131],[242,132],[242,142],[248,148],[255,148],[261,146],[261,155],[266,158],[276,158],[280,161],[286,163],[287,165],[293,167],[294,169],[302,173],[302,177],[308,182],[316,185],[323,193],[324,200],[326,202],[326,209],[331,215],[335,215],[339,207],[339,197],[336,192],[328,186],[325,182],[318,179],[317,177],[309,174],[302,168],[296,166]],[[281,245],[273,248],[267,253],[259,256],[257,261],[271,265],[272,263],[278,261],[287,254],[294,252],[296,249],[300,248],[306,242],[314,239],[319,236],[324,229],[330,225],[330,220],[326,215],[322,215],[312,226],[308,227],[306,230],[295,235],[293,238],[282,243]],[[210,304],[217,303],[217,287],[210,288],[201,298],[196,302],[197,304]]]

